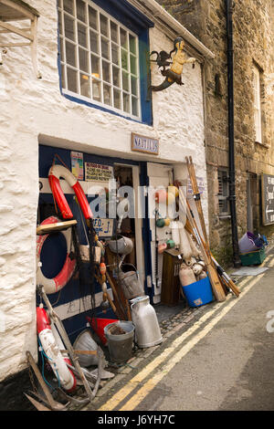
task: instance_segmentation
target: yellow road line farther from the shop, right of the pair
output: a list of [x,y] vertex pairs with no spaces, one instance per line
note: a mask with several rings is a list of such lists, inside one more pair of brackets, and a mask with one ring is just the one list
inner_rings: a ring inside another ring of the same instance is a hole
[[[248,293],[250,288],[252,288],[263,276],[264,274],[260,274],[258,277],[254,278],[254,280],[251,281],[248,287],[240,294],[239,298],[243,298]],[[181,361],[181,359],[186,355],[186,353],[188,353],[188,351],[191,351],[195,347],[195,344],[202,340],[205,335],[207,335],[208,332],[210,332],[210,330],[212,330],[216,326],[216,323],[220,319],[223,319],[224,316],[226,316],[228,311],[232,309],[237,304],[237,302],[237,299],[234,299],[229,302],[227,306],[222,309],[219,314],[216,315],[215,319],[211,320],[203,330],[201,330],[200,332],[198,332],[197,335],[195,335],[194,339],[188,341],[180,351],[177,351],[174,356],[168,360],[168,362],[161,370],[157,371],[150,378],[150,380],[145,382],[145,384],[142,385],[141,389],[139,389],[138,392],[136,392],[132,396],[132,398],[121,407],[119,411],[132,411],[139,405],[139,403],[142,403],[142,400],[148,395],[149,392],[153,390],[153,388],[158,384],[158,382],[161,382],[163,377],[165,377],[165,375],[167,375],[167,373],[174,368],[175,364]]]

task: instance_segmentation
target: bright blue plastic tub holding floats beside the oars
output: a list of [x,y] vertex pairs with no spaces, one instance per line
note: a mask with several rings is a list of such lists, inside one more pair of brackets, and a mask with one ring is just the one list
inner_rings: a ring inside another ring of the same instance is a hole
[[184,296],[190,307],[200,307],[213,301],[212,288],[209,278],[195,281],[187,286],[182,286]]

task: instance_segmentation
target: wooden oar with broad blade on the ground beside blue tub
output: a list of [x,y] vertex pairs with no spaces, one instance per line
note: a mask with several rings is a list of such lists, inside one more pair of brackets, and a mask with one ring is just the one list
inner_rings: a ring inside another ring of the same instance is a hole
[[[182,205],[183,202],[184,202],[184,205]],[[181,204],[182,210],[184,210],[184,206],[185,206],[186,216],[187,216],[189,223],[190,223],[190,225],[194,231],[196,241],[197,241],[198,245],[200,246],[202,256],[203,256],[203,259],[205,262],[206,271],[207,271],[207,274],[208,274],[208,277],[209,277],[215,298],[219,302],[225,301],[226,300],[225,291],[224,291],[224,289],[220,283],[220,280],[219,280],[219,277],[216,273],[215,267],[213,267],[211,264],[211,258],[205,249],[205,244],[202,241],[201,235],[200,235],[199,230],[197,228],[197,225],[195,223],[195,216],[194,216],[192,210],[190,209],[190,206],[189,206],[189,203],[188,203],[186,197],[184,198],[184,195],[183,195],[181,189],[179,189],[179,204]]]

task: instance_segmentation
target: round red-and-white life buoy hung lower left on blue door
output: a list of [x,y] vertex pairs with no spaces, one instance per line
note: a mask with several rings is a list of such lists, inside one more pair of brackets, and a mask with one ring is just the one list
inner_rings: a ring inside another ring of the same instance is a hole
[[[47,219],[45,219],[41,225],[57,224],[58,222],[60,222],[58,217],[50,216],[47,217]],[[64,288],[64,286],[67,285],[68,280],[72,277],[76,267],[76,259],[70,258],[71,230],[68,228],[65,231],[60,231],[60,233],[63,234],[66,238],[67,256],[64,266],[58,275],[54,278],[45,277],[40,267],[41,250],[45,241],[47,240],[48,234],[37,235],[37,285],[43,285],[47,294],[56,293],[61,288]]]

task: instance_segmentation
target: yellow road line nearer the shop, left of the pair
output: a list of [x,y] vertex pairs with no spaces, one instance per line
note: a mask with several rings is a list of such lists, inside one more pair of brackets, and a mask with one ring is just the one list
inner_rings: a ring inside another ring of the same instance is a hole
[[[243,287],[249,280],[249,276],[247,278],[245,278],[241,283],[240,286]],[[258,278],[258,277],[257,277]],[[243,292],[242,292],[243,293]],[[240,296],[242,295],[242,293],[240,294]],[[236,300],[235,302],[237,302],[238,298],[235,298],[233,295],[231,295],[228,299],[234,299]],[[228,299],[224,302],[221,303],[217,303],[216,306],[214,307],[214,309],[208,311],[205,313],[205,315],[197,320],[195,322],[195,324],[189,328],[188,330],[186,330],[180,337],[177,337],[172,344],[170,345],[170,347],[168,347],[167,349],[165,349],[163,351],[163,353],[161,353],[159,356],[157,356],[151,363],[149,363],[145,368],[143,368],[142,371],[138,372],[138,374],[136,374],[132,380],[130,380],[125,386],[123,386],[121,388],[121,390],[117,393],[115,393],[110,400],[108,400],[107,403],[104,403],[99,411],[111,411],[114,408],[116,408],[119,403],[121,403],[121,401],[123,401],[137,386],[138,383],[143,382],[143,380],[153,371],[155,371],[155,369],[163,362],[165,361],[165,359],[167,359],[169,357],[170,354],[174,353],[175,349],[182,344],[182,342],[184,340],[186,340],[190,335],[192,335],[193,333],[195,333],[196,330],[200,329],[201,325],[203,323],[205,323],[205,321],[209,318],[211,318],[211,316],[213,316],[213,314],[223,305],[227,304]]]

